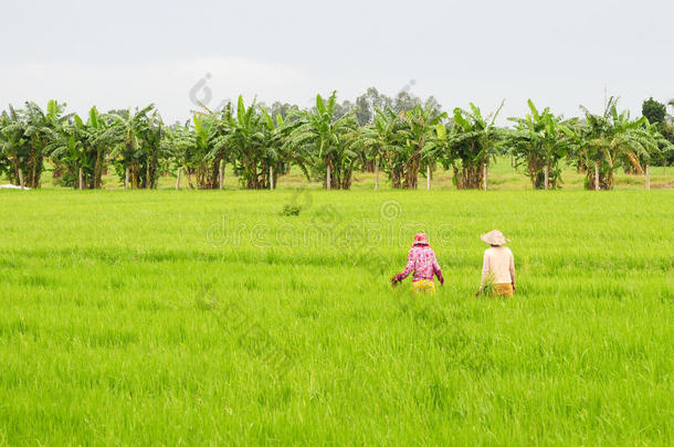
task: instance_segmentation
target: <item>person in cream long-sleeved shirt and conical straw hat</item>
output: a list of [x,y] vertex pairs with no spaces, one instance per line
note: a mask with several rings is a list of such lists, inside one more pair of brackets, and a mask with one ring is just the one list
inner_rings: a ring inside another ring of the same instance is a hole
[[484,251],[482,263],[481,294],[486,284],[493,285],[492,295],[512,297],[515,292],[515,257],[510,248],[504,247],[507,240],[498,230],[493,230],[480,236],[491,245]]

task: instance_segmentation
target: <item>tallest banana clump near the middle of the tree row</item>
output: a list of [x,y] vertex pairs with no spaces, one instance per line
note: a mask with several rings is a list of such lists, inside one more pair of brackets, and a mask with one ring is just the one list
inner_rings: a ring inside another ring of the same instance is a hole
[[284,149],[292,150],[297,159],[306,160],[306,166],[324,188],[348,190],[358,160],[358,153],[349,147],[350,140],[356,138],[358,121],[351,113],[336,119],[336,98],[337,92],[333,92],[327,102],[316,95],[314,110],[302,110],[296,119],[286,120],[289,138]]

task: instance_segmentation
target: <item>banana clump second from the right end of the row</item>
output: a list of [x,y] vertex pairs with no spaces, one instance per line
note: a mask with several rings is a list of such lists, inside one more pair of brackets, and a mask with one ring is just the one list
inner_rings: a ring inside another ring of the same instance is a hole
[[535,189],[556,189],[561,182],[559,161],[567,156],[571,143],[568,127],[549,107],[538,111],[531,99],[527,104],[530,113],[525,118],[508,118],[515,128],[507,135],[506,146],[515,157],[516,167],[525,164]]

